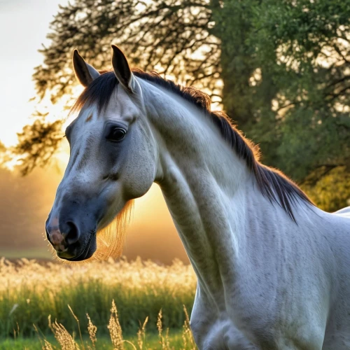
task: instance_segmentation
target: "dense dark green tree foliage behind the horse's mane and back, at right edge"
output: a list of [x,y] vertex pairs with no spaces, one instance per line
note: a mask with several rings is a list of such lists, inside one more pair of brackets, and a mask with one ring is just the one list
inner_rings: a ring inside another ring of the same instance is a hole
[[[260,144],[267,165],[307,181],[316,204],[346,205],[349,188],[325,195],[320,183],[345,183],[350,169],[350,3],[222,4],[213,32],[221,38],[225,109]],[[322,181],[323,169],[337,167],[341,174]]]

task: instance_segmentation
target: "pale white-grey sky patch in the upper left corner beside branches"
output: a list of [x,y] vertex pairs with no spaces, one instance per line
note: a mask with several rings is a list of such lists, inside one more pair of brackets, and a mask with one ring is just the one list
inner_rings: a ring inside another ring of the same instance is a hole
[[34,83],[31,75],[41,64],[38,52],[49,23],[57,12],[58,0],[0,0],[0,140],[6,146],[15,144],[16,132],[28,123],[34,104]]

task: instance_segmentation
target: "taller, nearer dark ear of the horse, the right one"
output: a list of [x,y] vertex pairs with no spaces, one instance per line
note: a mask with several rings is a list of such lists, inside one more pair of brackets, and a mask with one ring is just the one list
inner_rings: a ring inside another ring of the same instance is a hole
[[119,83],[129,92],[134,92],[134,76],[123,51],[116,45],[111,45],[113,49],[112,66]]

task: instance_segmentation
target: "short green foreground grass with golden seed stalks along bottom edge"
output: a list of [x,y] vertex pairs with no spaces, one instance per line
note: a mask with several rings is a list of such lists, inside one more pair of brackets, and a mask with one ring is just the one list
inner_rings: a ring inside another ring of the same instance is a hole
[[186,315],[185,322],[183,324],[183,330],[172,330],[169,328],[163,330],[162,328],[162,311],[158,314],[157,328],[158,335],[149,334],[146,332],[146,326],[148,318],[144,323],[140,324],[137,335],[124,336],[123,331],[120,327],[118,318],[118,311],[116,304],[113,301],[111,307],[111,317],[107,328],[109,329],[109,337],[98,337],[97,339],[97,327],[92,323],[90,317],[87,315],[89,320],[87,325],[87,336],[83,336],[83,332],[80,329],[80,321],[73,314],[73,311],[69,307],[73,318],[75,318],[78,325],[78,335],[75,332],[70,334],[64,325],[52,322],[50,316],[48,318],[48,324],[52,335],[45,336],[40,334],[34,325],[37,332],[37,337],[21,337],[16,336],[13,339],[0,339],[0,350],[1,349],[42,349],[42,350],[96,350],[96,349],[113,349],[113,350],[197,350],[193,335],[190,332],[190,320],[186,309],[184,313]]

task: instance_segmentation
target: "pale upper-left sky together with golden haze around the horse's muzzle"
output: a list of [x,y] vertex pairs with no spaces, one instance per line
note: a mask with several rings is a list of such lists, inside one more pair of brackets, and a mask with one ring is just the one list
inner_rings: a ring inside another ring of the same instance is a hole
[[[13,146],[16,132],[33,121],[29,118],[34,111],[29,99],[35,96],[31,76],[42,62],[38,49],[48,43],[45,36],[59,3],[67,1],[0,0],[0,141],[5,146]],[[36,169],[24,179],[7,170],[0,172],[0,255],[50,256],[43,223],[67,159],[63,157],[58,168]],[[136,200],[124,253],[127,258],[140,255],[166,263],[174,258],[188,261],[158,186]]]

